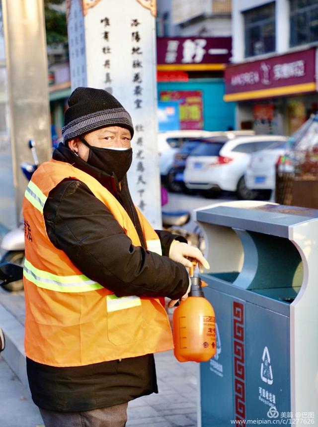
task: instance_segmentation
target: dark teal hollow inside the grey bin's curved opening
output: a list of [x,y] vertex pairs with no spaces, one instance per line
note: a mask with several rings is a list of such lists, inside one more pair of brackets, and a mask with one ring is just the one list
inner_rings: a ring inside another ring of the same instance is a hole
[[[277,301],[292,303],[301,289],[304,275],[296,246],[283,237],[240,229],[232,231],[241,243],[236,245],[243,255],[240,271],[233,271],[233,262],[229,261],[229,271],[223,265],[223,271],[210,272],[208,276]],[[237,267],[240,267],[238,263]],[[214,270],[217,269],[215,264]]]

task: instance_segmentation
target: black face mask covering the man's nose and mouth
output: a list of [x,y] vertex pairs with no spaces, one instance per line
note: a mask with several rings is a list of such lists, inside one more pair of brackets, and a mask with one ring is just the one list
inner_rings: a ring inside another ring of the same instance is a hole
[[132,148],[116,150],[112,148],[92,147],[83,137],[79,139],[89,148],[87,159],[89,165],[109,175],[114,173],[118,181],[124,178],[133,160]]

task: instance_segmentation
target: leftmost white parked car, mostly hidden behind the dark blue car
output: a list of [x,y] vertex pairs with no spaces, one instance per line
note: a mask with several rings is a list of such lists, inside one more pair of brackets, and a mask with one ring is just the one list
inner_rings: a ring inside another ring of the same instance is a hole
[[174,154],[183,145],[184,141],[212,135],[213,132],[208,130],[170,130],[167,132],[159,132],[158,151],[162,184],[170,190],[169,172],[172,168]]

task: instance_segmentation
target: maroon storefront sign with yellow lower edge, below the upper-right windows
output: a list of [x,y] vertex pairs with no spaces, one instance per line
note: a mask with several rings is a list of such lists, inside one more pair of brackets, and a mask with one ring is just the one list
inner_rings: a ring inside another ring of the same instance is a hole
[[225,101],[272,98],[316,91],[316,48],[225,70]]

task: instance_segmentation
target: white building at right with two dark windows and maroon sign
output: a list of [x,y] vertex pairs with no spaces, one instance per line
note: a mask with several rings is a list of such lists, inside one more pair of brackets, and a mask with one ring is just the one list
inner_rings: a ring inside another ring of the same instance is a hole
[[226,102],[238,128],[292,134],[318,109],[317,0],[235,0]]

